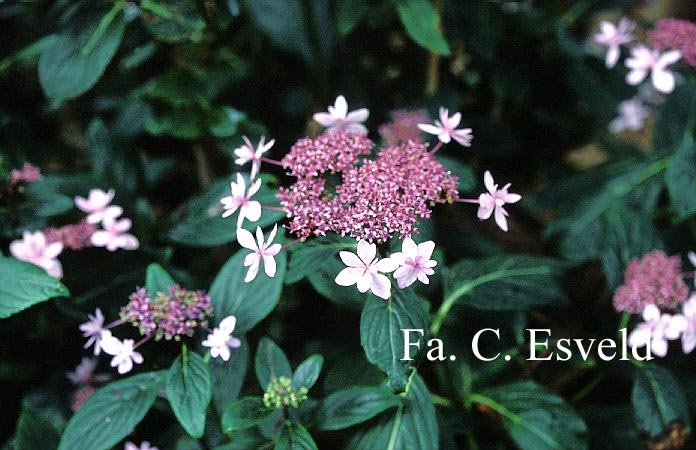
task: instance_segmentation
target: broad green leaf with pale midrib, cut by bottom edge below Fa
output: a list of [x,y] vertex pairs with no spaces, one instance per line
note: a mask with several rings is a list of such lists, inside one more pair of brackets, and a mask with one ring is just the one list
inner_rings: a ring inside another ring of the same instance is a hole
[[435,407],[423,379],[412,373],[406,395],[396,409],[383,413],[368,430],[360,430],[346,448],[371,450],[437,449]]

